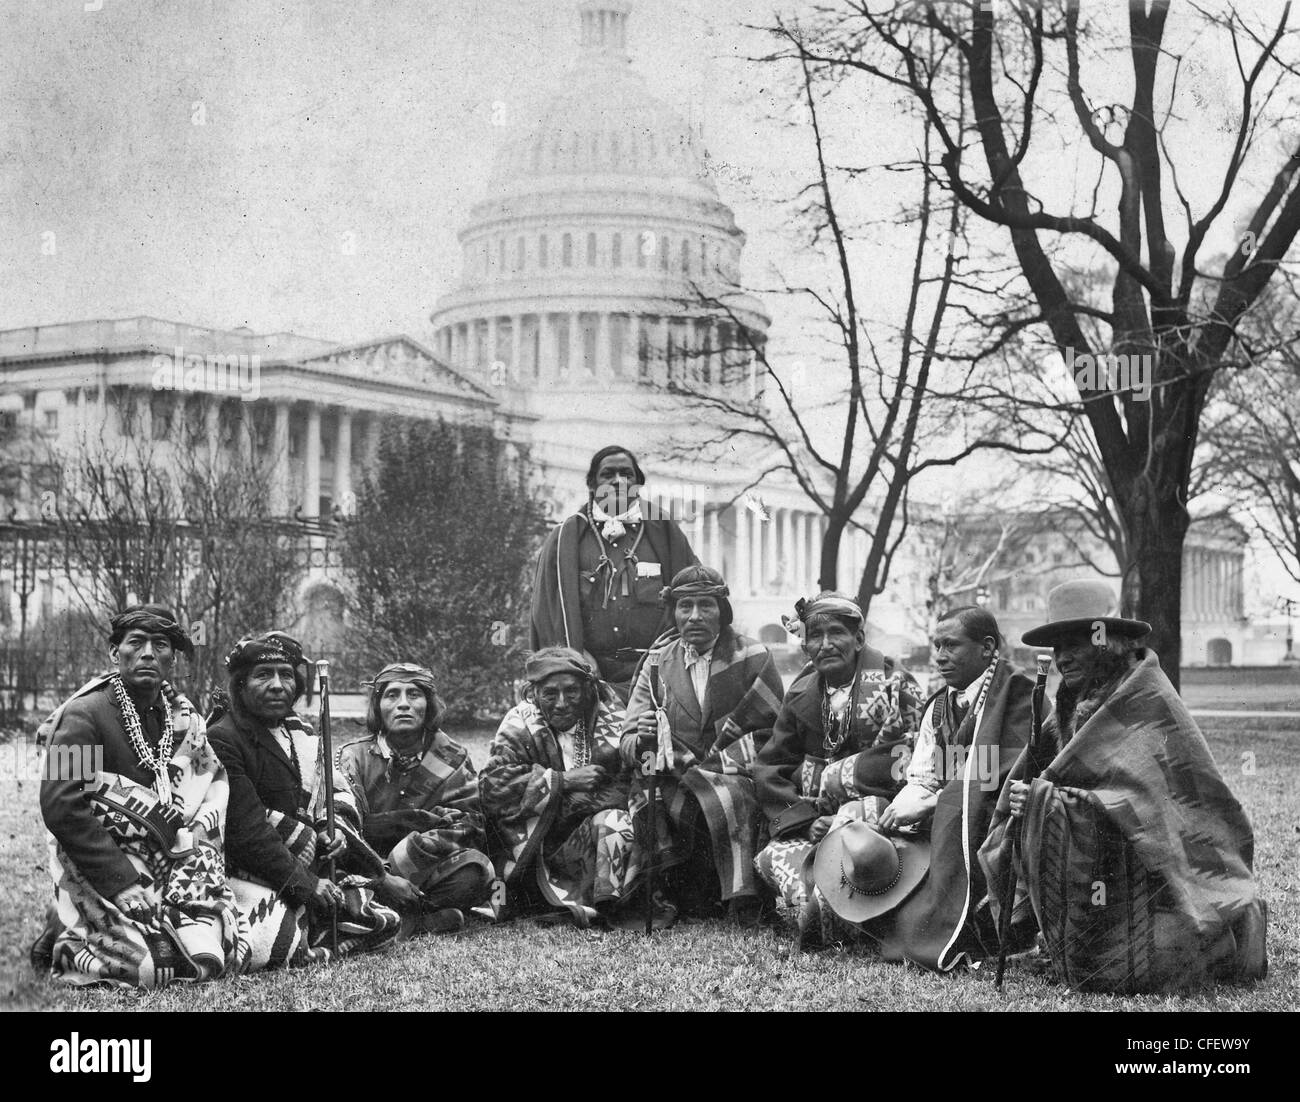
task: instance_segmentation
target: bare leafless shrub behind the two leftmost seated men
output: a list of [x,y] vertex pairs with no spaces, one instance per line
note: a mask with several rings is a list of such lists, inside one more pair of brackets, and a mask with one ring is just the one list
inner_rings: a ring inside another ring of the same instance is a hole
[[272,515],[272,457],[259,454],[250,407],[228,409],[208,441],[202,399],[161,426],[143,417],[144,400],[114,395],[113,428],[52,454],[64,478],[51,519],[68,586],[92,621],[133,602],[176,609],[196,642],[188,681],[202,707],[224,680],[226,648],[287,613],[303,535]]

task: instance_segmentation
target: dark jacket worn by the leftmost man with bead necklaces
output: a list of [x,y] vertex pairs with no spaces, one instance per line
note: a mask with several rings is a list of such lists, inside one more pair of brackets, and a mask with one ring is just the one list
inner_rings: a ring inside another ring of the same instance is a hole
[[[162,703],[160,700],[152,708],[146,708],[136,702],[136,708],[144,738],[151,747],[156,747],[162,736]],[[82,746],[103,747],[103,760],[98,765],[104,772],[121,773],[142,785],[153,784],[153,772],[140,765],[135,749],[126,737],[122,711],[108,684],[64,706],[58,725],[49,738],[46,772],[69,772],[49,767],[60,760],[70,760],[69,749]],[[82,763],[91,759],[78,752],[75,760]],[[100,895],[112,899],[124,888],[148,877],[135,871],[135,865],[91,811],[84,788],[87,781],[94,781],[94,773],[87,775],[86,769],[75,772],[79,776],[62,780],[55,776],[40,782],[40,815],[77,871]]]

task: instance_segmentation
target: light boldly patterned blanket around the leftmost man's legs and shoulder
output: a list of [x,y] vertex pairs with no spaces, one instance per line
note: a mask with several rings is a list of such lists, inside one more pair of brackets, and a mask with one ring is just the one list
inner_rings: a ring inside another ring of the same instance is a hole
[[248,928],[226,881],[222,829],[230,790],[203,720],[177,711],[179,739],[168,775],[170,803],[118,773],[99,772],[86,798],[113,842],[151,884],[155,916],[127,917],[100,895],[48,836],[62,930],[52,975],[68,984],[161,988],[238,973],[250,958]]

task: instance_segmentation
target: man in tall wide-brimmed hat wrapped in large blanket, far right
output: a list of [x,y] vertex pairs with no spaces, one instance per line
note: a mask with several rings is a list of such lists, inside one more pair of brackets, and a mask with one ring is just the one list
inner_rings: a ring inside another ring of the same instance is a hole
[[[1013,859],[1061,982],[1080,990],[1169,992],[1264,976],[1265,908],[1254,837],[1205,739],[1141,646],[1150,625],[1117,613],[1105,582],[1048,594],[1061,687],[1044,725],[1045,768],[1020,756],[979,851],[1000,907]],[[1013,858],[1011,824],[1020,845]]]

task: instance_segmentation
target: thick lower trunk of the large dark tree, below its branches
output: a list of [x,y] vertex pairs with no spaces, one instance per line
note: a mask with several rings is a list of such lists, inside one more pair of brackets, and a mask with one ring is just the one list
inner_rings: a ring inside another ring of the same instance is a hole
[[1183,619],[1183,542],[1190,519],[1176,502],[1127,517],[1138,548],[1136,616],[1150,624],[1147,645],[1156,651],[1165,674],[1179,685]]

